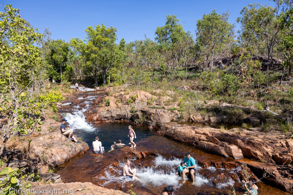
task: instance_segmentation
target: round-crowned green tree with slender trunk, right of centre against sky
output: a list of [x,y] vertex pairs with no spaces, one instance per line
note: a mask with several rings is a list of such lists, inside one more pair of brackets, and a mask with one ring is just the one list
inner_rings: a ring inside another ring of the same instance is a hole
[[196,42],[206,47],[206,55],[211,53],[210,72],[212,71],[215,51],[221,52],[227,42],[233,39],[234,25],[229,23],[229,12],[219,15],[213,10],[202,19],[197,20]]

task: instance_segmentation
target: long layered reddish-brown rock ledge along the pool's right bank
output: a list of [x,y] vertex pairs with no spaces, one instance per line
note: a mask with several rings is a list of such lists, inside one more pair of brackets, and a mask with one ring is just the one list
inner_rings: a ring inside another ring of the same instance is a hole
[[[259,178],[267,172],[272,186],[291,192],[293,189],[293,140],[242,128],[229,131],[211,127],[162,124],[157,134],[186,142],[223,157],[232,157],[247,164]],[[248,158],[248,159],[245,159]],[[260,162],[259,162],[260,161]],[[265,162],[265,163],[263,163]]]

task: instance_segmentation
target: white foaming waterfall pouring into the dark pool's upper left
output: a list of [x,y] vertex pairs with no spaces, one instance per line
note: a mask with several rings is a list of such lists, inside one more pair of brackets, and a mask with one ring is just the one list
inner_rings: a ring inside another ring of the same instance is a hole
[[86,108],[82,110],[77,110],[73,114],[67,113],[66,119],[69,123],[71,129],[83,129],[85,131],[94,131],[96,130],[93,126],[86,122],[84,112]]

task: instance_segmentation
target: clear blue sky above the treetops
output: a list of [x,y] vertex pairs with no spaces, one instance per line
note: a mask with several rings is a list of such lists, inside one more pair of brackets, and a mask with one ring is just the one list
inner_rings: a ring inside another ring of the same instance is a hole
[[[165,25],[166,16],[177,15],[184,30],[195,35],[196,20],[209,14],[230,11],[230,22],[236,19],[244,6],[259,2],[274,7],[268,0],[2,0],[21,9],[20,15],[34,28],[43,32],[49,28],[52,39],[69,41],[71,38],[84,39],[84,29],[104,23],[117,28],[117,42],[144,39],[144,35],[154,40],[158,26]],[[0,6],[3,11],[4,5]],[[239,24],[237,24],[239,27]]]

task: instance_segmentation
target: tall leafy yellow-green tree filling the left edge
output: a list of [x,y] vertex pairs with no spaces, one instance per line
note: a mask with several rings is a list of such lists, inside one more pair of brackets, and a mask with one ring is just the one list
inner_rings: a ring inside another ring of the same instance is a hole
[[41,131],[42,103],[59,100],[60,94],[40,98],[42,94],[35,93],[39,90],[31,88],[40,79],[37,70],[43,65],[35,44],[42,39],[38,29],[28,25],[12,5],[6,5],[4,12],[0,12],[0,28],[0,116],[7,121],[0,132],[1,155],[10,137]]

